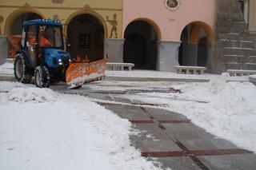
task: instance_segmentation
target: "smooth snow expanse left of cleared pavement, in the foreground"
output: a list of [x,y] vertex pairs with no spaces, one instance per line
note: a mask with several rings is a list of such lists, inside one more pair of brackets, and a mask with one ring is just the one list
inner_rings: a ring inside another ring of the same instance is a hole
[[0,169],[158,169],[129,121],[89,98],[0,81]]

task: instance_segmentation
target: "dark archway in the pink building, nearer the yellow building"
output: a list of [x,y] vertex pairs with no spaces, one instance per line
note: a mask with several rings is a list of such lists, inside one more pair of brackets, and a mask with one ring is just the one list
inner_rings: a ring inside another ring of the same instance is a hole
[[134,63],[135,69],[156,69],[158,34],[149,22],[134,21],[127,27],[123,61]]

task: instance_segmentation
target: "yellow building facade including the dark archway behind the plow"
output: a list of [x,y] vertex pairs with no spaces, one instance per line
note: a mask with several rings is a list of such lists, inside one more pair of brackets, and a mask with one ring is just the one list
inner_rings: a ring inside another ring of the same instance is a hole
[[21,34],[22,22],[32,19],[61,21],[67,50],[90,60],[102,58],[109,41],[122,38],[122,0],[2,0],[0,11],[0,34],[6,36]]

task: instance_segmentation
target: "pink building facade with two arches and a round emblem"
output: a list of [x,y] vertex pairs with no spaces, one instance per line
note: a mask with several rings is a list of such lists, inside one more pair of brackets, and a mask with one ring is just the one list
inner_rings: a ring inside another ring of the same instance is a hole
[[[214,5],[213,0],[124,0],[123,61],[160,71],[173,71],[175,65],[206,66]],[[205,58],[198,61],[199,55]]]

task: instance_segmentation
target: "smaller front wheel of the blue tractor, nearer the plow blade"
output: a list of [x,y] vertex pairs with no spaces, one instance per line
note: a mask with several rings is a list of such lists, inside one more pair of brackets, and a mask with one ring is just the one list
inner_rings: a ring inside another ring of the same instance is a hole
[[50,87],[50,73],[46,66],[37,66],[34,70],[34,82],[39,88]]

